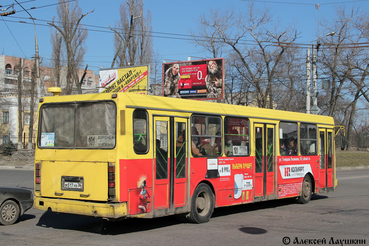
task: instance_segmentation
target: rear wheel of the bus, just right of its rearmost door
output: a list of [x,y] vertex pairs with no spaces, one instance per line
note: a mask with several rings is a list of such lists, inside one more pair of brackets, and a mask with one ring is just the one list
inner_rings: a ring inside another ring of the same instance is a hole
[[214,209],[214,194],[207,184],[199,184],[191,199],[191,211],[187,220],[201,224],[208,222]]

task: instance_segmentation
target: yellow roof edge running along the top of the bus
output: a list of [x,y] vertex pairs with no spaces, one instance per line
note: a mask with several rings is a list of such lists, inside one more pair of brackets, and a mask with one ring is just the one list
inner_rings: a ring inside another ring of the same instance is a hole
[[161,111],[176,111],[190,113],[207,113],[244,116],[256,119],[279,119],[283,121],[299,121],[334,126],[334,119],[324,115],[306,114],[283,110],[272,110],[242,105],[213,103],[210,101],[170,98],[135,93],[96,93],[68,96],[44,97],[44,103],[111,100],[117,94],[119,108],[146,108]]

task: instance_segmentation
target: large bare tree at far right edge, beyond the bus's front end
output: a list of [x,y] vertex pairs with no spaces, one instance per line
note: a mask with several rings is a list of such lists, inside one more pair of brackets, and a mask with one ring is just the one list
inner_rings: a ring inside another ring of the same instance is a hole
[[363,44],[368,42],[366,16],[361,8],[346,9],[344,6],[338,6],[333,17],[321,22],[323,27],[336,32],[330,42],[322,42],[323,59],[320,68],[322,76],[328,76],[332,81],[328,91],[329,115],[335,116],[337,111],[342,111],[339,100],[350,102],[346,104],[342,120],[342,123],[346,122],[347,125],[348,149],[351,147],[358,99],[363,97],[369,102],[369,52],[367,45]]

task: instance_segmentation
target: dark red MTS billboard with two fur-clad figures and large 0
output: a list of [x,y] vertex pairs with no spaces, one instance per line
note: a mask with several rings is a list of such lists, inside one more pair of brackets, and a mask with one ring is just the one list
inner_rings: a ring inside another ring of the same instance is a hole
[[163,96],[222,99],[224,58],[163,63]]

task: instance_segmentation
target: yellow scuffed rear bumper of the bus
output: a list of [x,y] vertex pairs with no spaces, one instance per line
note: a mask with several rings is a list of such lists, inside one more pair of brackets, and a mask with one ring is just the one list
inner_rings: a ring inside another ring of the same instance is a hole
[[54,212],[90,215],[104,218],[121,218],[127,216],[127,202],[116,204],[75,201],[60,198],[35,197],[34,208]]

